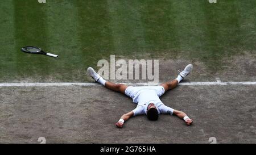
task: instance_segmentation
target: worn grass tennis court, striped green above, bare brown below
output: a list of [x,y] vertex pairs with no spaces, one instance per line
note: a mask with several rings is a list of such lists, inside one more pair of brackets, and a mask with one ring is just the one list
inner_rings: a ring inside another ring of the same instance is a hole
[[[5,0],[0,15],[0,84],[59,82],[0,85],[0,143],[256,143],[256,1]],[[30,45],[59,58],[20,51]],[[61,86],[93,82],[86,69],[110,55],[159,60],[159,82],[193,64],[185,82],[254,84],[180,85],[161,99],[191,115],[191,127],[164,115],[118,129],[134,108],[129,98],[94,84]]]

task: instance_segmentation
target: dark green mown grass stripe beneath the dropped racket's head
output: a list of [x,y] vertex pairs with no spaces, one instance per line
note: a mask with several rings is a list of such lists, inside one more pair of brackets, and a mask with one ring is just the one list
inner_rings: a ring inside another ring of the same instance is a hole
[[46,4],[38,1],[13,1],[15,28],[15,55],[18,79],[37,78],[43,81],[48,74],[49,57],[20,52],[32,45],[47,50]]

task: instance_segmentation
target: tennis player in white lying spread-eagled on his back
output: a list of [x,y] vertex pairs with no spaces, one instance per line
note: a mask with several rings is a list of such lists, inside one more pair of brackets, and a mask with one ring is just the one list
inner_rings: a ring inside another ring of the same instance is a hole
[[120,93],[126,94],[133,99],[133,102],[138,104],[133,110],[121,116],[121,119],[115,124],[117,127],[122,128],[123,123],[129,118],[137,115],[147,115],[149,120],[158,120],[159,114],[169,114],[176,115],[180,119],[183,119],[187,125],[191,125],[193,120],[189,119],[187,114],[182,111],[174,110],[167,107],[159,99],[166,91],[174,89],[180,81],[182,81],[188,74],[192,71],[193,65],[189,64],[185,69],[179,74],[179,76],[160,86],[127,86],[123,84],[115,84],[113,82],[106,81],[99,74],[97,74],[93,68],[88,68],[88,74],[93,77],[93,79],[108,89],[118,91]]

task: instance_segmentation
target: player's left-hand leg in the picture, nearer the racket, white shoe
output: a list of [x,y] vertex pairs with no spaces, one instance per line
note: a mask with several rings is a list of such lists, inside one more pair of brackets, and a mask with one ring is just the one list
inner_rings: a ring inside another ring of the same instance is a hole
[[101,85],[104,85],[108,89],[125,94],[125,90],[128,87],[127,85],[116,84],[113,82],[106,81],[99,74],[97,74],[93,68],[90,68],[90,67],[87,69],[87,72],[96,82],[101,83]]

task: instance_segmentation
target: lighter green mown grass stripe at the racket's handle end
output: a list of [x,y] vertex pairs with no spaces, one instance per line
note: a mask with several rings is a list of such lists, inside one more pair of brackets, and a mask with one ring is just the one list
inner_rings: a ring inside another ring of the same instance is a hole
[[[59,55],[51,61],[48,78],[53,81],[79,81],[84,70],[83,52],[79,47],[77,1],[47,2],[48,49]],[[82,7],[82,6],[80,6]]]

